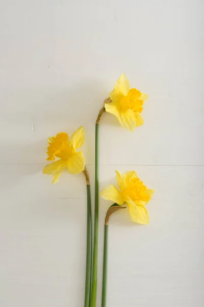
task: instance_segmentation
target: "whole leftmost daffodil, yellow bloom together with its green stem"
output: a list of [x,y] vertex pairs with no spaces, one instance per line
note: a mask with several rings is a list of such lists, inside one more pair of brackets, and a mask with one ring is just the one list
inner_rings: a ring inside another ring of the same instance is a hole
[[68,172],[78,174],[84,172],[87,186],[87,249],[86,249],[86,282],[84,306],[89,307],[91,291],[91,257],[92,257],[92,222],[91,222],[91,193],[89,183],[89,173],[85,166],[85,158],[82,151],[76,151],[84,143],[84,128],[79,127],[71,136],[66,132],[60,132],[55,137],[48,138],[47,160],[59,160],[46,165],[44,174],[53,175],[53,184],[60,177],[63,169]]

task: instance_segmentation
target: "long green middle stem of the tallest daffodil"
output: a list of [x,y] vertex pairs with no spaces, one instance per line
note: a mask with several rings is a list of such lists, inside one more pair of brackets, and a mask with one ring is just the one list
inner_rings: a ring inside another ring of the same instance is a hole
[[98,259],[98,128],[95,125],[95,214],[94,214],[94,242],[93,242],[93,272],[90,307],[96,305],[97,290],[97,259]]

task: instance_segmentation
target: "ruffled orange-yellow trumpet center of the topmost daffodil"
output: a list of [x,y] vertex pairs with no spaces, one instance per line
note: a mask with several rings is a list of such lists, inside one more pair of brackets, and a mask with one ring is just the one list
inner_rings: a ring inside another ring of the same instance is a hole
[[127,96],[123,96],[120,100],[121,110],[131,109],[133,112],[142,112],[143,101],[140,99],[141,92],[131,89]]

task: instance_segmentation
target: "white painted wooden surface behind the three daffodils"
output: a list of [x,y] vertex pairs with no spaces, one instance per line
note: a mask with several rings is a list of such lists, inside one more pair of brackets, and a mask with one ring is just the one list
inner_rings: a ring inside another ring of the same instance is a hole
[[[154,199],[150,224],[111,217],[107,307],[204,305],[203,2],[1,0],[0,306],[83,307],[86,186],[41,171],[46,139],[94,121],[123,72],[149,94],[132,134],[106,114],[100,189],[136,170]],[[98,296],[103,223],[100,199]]]

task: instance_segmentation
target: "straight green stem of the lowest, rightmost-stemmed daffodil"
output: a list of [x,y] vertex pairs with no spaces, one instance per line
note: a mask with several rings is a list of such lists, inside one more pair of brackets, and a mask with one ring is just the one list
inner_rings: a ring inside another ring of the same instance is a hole
[[106,289],[108,272],[108,225],[104,228],[104,265],[103,265],[103,288],[101,307],[106,307]]

